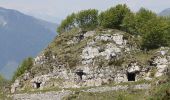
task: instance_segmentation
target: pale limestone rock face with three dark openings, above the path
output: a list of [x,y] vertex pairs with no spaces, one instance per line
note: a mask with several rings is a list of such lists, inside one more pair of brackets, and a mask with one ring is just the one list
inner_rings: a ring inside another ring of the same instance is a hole
[[[71,36],[72,39],[62,41],[65,42],[62,49],[53,44],[55,47],[50,49],[51,54],[47,56],[41,53],[37,56],[34,59],[34,66],[29,73],[25,72],[22,75],[21,80],[27,81],[34,89],[80,88],[101,86],[110,82],[152,80],[153,77],[166,74],[166,69],[170,65],[169,49],[161,48],[153,54],[150,65],[147,64],[148,61],[143,64],[134,56],[142,53],[136,48],[136,44],[129,42],[129,37],[125,37],[125,33],[112,32],[113,30],[79,32]],[[133,37],[130,39],[133,40]],[[75,47],[72,49],[75,49],[76,55],[70,50],[71,46]],[[151,77],[153,69],[156,71],[154,70],[155,75]],[[20,88],[23,81],[16,80],[11,92]],[[135,88],[144,87],[145,85]]]

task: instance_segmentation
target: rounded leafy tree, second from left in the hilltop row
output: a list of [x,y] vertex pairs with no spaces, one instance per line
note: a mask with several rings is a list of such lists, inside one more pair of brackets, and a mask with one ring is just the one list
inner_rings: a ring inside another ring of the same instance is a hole
[[82,30],[92,30],[98,25],[98,11],[95,9],[83,10],[77,14],[76,22]]

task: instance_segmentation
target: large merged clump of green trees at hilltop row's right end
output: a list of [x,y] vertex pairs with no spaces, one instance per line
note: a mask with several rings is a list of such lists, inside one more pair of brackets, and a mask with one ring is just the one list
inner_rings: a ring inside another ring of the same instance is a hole
[[143,49],[156,49],[170,43],[168,21],[144,8],[141,8],[136,14],[127,14],[123,20],[122,28],[133,35],[142,36]]

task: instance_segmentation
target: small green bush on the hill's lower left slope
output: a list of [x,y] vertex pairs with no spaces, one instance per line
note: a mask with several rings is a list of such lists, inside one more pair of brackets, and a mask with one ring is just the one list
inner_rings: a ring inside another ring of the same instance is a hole
[[14,81],[17,77],[21,76],[26,70],[27,71],[30,70],[32,66],[33,66],[33,59],[31,57],[28,57],[18,67],[17,71],[14,73],[12,80]]

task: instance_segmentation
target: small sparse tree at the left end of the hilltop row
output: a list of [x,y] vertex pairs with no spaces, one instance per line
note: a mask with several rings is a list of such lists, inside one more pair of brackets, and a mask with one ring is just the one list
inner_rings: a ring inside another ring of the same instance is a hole
[[58,33],[66,32],[75,27],[76,15],[72,13],[68,15],[66,19],[61,22],[61,25],[57,28]]

